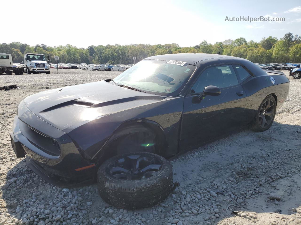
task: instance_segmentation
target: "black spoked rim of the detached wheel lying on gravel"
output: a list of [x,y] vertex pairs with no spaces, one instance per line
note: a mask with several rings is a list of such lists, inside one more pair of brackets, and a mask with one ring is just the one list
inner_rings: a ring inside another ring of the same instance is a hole
[[117,179],[137,181],[156,176],[162,170],[162,163],[143,154],[121,155],[110,163],[108,169]]

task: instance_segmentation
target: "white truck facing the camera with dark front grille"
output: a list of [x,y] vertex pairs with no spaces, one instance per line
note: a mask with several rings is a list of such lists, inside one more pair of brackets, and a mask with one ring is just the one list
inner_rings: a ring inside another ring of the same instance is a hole
[[24,54],[24,72],[27,74],[36,73],[47,73],[50,74],[50,65],[48,64],[49,56],[47,56],[47,61],[45,55],[36,53],[26,53]]

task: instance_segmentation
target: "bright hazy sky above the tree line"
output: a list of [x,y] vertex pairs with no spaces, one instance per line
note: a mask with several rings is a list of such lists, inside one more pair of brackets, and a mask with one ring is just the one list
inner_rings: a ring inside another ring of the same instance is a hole
[[[0,43],[31,46],[171,44],[194,46],[243,37],[301,35],[301,1],[1,1],[7,32]],[[226,16],[284,17],[284,22],[231,22]],[[2,25],[5,22],[2,21]],[[14,31],[15,28],[20,31]]]

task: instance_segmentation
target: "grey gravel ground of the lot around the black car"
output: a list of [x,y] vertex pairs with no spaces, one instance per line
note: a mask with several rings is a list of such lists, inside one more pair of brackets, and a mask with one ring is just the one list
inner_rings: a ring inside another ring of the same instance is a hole
[[0,91],[0,225],[301,223],[301,80],[292,77],[287,101],[268,131],[245,129],[179,156],[172,165],[180,187],[152,208],[112,208],[99,197],[96,184],[55,187],[15,157],[9,133],[19,100],[46,88],[119,73],[59,70],[56,74],[52,69],[51,74],[0,76],[0,86],[20,87]]

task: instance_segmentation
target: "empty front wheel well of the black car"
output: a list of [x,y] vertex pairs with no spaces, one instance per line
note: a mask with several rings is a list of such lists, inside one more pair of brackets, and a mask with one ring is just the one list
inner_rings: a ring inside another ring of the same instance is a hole
[[[116,143],[120,143],[120,141],[125,138],[127,135],[131,133],[138,132],[149,132],[150,134],[155,135],[155,153],[157,155],[161,155],[164,157],[164,148],[168,148],[167,140],[164,135],[163,129],[158,127],[153,123],[148,122],[135,122],[134,124],[126,124],[119,127],[114,133],[111,135],[105,146],[101,149],[97,158],[97,163],[102,164],[107,159],[117,155]],[[134,151],[133,151],[134,152]]]

